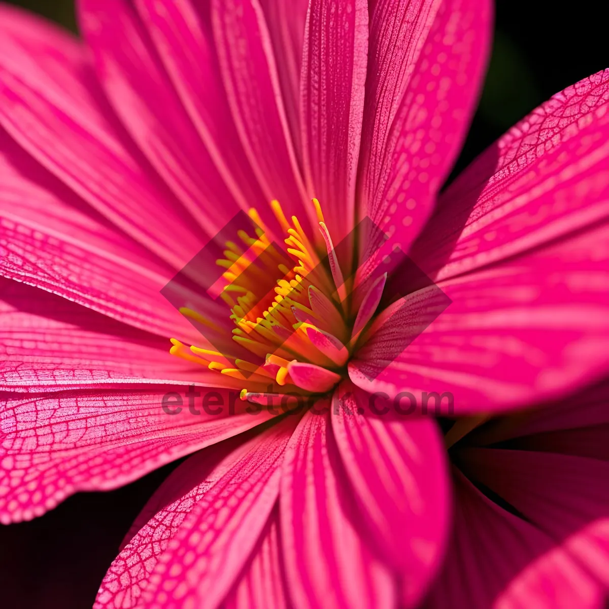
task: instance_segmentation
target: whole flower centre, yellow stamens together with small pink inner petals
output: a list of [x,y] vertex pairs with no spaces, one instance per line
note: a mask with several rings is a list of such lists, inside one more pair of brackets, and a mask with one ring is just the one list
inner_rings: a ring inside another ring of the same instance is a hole
[[[349,289],[353,282],[343,280],[321,206],[317,199],[312,203],[320,231],[317,241],[309,239],[297,217],[287,220],[278,201],[270,203],[286,235],[291,266],[286,253],[272,247],[267,237],[271,233],[255,209],[248,215],[258,225],[256,234],[239,231],[235,241],[225,244],[224,258],[217,260],[226,269],[220,295],[230,307],[232,339],[252,357],[188,348],[171,339],[172,354],[206,365],[225,381],[228,377],[241,382],[242,400],[259,401],[269,390],[298,395],[332,390],[345,375],[381,299],[386,276],[373,281],[354,302],[355,292]],[[269,276],[276,278],[271,292],[266,287]],[[356,315],[351,313],[354,306]],[[190,309],[181,312],[202,321]]]

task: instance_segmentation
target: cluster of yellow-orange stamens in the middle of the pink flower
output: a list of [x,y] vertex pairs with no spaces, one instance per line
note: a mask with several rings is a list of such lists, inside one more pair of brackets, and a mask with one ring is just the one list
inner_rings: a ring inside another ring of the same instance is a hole
[[[280,242],[280,239],[268,231],[254,208],[248,211],[248,216],[256,224],[253,234],[252,228],[239,230],[233,241],[225,243],[224,258],[216,261],[224,270],[222,279],[217,282],[216,294],[230,308],[229,318],[235,326],[231,329],[233,340],[255,356],[264,358],[264,365],[253,363],[255,360],[233,359],[214,349],[188,348],[172,340],[172,354],[237,379],[239,385],[243,382],[246,387],[240,394],[242,400],[255,400],[261,387],[266,387],[273,379],[276,385],[294,384],[288,371],[290,362],[311,362],[337,370],[350,354],[347,344],[349,328],[345,323],[347,316],[340,314],[338,309],[336,315],[331,314],[334,308],[330,312],[325,310],[325,301],[331,304],[330,301],[338,298],[336,288],[341,287],[339,280],[342,280],[342,275],[335,258],[330,260],[332,273],[325,264],[320,264],[320,256],[323,253],[325,258],[325,250],[331,250],[332,246],[319,200],[312,199],[312,205],[326,242],[325,248],[317,231],[307,234],[296,216],[288,219],[277,200],[270,202],[270,209],[285,233],[287,253],[295,261],[291,268],[283,262],[283,252],[275,252],[269,247],[272,241]],[[259,258],[263,251],[269,256],[268,263],[262,263],[262,258]],[[275,278],[276,287],[269,294],[262,294],[262,290],[267,289],[264,286],[268,285],[269,274]],[[188,308],[181,309],[181,312],[189,319],[216,331],[219,329],[216,319],[211,321]],[[303,315],[310,315],[315,323],[301,323],[300,320],[305,319]],[[326,334],[331,343],[336,335],[337,345],[340,341],[347,344],[342,348],[345,353],[339,347],[333,350],[322,339],[315,342],[319,345],[316,347],[311,342],[311,337],[314,337],[312,329],[318,333],[315,337],[319,338],[319,333]]]

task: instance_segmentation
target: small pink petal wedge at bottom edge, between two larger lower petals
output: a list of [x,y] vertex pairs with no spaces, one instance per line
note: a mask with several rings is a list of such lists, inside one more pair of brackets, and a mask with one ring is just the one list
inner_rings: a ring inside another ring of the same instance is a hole
[[275,505],[250,564],[222,605],[225,609],[287,609],[287,590],[281,566],[279,510]]

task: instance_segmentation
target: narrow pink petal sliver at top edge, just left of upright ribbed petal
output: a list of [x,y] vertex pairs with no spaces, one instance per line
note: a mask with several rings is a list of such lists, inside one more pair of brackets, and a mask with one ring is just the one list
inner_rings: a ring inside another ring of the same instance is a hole
[[300,141],[300,65],[303,58],[309,0],[261,0],[266,15],[273,52],[294,151],[302,161]]

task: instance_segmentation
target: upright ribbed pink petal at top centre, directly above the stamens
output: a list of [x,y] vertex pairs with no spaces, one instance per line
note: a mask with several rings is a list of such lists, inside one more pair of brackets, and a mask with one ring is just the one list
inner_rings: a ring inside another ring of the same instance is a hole
[[336,242],[354,226],[367,54],[365,0],[311,0],[300,77],[305,175]]

